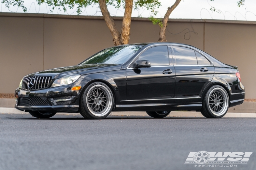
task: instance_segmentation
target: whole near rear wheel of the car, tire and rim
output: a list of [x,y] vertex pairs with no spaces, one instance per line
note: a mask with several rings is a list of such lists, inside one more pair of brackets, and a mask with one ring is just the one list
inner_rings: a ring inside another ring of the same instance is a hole
[[222,118],[228,112],[229,97],[225,88],[211,86],[204,95],[200,112],[206,118]]

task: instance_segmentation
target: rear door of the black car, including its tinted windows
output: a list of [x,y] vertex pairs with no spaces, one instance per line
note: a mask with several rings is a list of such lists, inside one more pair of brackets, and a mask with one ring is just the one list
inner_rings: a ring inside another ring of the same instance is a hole
[[212,63],[194,49],[172,46],[176,71],[175,103],[199,102],[202,92],[212,80]]

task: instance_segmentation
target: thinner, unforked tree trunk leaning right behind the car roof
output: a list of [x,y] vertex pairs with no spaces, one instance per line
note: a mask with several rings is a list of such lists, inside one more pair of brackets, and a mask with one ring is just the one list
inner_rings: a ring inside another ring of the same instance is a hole
[[167,27],[168,18],[172,13],[172,11],[176,8],[176,6],[179,5],[180,2],[181,0],[176,0],[176,2],[171,7],[168,7],[165,17],[162,20],[163,26],[160,28],[160,32],[159,32],[160,37],[158,39],[158,42],[166,42],[166,27]]

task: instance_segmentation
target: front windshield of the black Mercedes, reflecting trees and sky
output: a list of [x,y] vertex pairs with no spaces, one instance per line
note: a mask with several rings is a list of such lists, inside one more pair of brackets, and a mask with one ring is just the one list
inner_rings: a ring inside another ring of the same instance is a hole
[[143,45],[118,46],[102,50],[80,65],[84,64],[123,64],[128,61]]

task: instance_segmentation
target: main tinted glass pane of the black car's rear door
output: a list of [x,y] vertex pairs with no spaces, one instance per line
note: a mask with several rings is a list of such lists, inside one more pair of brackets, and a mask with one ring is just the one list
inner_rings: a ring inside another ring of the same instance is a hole
[[178,46],[172,46],[172,48],[177,65],[197,65],[197,57],[194,50]]

